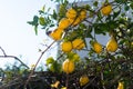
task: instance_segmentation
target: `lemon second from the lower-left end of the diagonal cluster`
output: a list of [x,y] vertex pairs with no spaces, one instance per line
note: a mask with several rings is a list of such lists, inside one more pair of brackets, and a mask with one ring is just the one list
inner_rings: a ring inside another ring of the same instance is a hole
[[66,29],[70,26],[70,20],[68,18],[62,18],[59,22],[59,28]]

